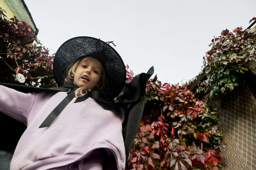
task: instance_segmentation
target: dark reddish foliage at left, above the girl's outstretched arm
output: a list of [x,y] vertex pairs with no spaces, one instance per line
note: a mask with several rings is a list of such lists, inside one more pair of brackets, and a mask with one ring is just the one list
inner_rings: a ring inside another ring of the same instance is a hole
[[52,87],[55,82],[49,51],[25,21],[16,17],[8,20],[4,12],[0,8],[0,81],[20,83],[16,78],[20,73],[26,78],[22,84]]

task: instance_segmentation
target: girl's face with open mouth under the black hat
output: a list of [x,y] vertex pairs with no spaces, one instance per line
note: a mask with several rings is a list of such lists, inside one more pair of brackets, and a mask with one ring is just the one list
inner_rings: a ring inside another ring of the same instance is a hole
[[93,57],[86,57],[77,66],[74,76],[76,87],[85,87],[86,90],[92,90],[102,84],[102,64]]

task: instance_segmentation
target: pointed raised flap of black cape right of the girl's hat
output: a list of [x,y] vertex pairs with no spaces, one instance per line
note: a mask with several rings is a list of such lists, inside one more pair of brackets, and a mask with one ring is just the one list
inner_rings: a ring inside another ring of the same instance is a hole
[[131,81],[127,81],[116,99],[116,103],[130,104],[123,123],[126,158],[128,158],[143,115],[146,83],[153,73],[154,67],[151,67],[147,73],[138,74]]

